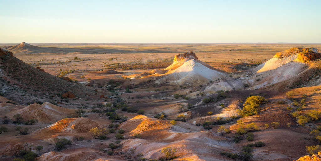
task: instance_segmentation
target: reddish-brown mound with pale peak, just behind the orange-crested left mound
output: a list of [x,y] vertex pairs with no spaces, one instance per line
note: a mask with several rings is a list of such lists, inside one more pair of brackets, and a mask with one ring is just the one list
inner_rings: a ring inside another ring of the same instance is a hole
[[12,115],[21,114],[24,120],[35,119],[40,123],[51,124],[67,116],[76,117],[73,109],[65,109],[45,102],[42,105],[31,104],[23,109],[12,112]]

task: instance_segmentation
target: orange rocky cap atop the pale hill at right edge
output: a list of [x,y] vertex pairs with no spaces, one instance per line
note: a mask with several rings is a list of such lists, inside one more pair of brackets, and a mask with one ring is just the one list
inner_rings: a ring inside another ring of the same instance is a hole
[[288,50],[284,50],[282,52],[277,52],[274,55],[274,58],[282,59],[291,56],[296,56],[296,61],[306,63],[321,58],[321,53],[320,50],[316,48],[294,47]]

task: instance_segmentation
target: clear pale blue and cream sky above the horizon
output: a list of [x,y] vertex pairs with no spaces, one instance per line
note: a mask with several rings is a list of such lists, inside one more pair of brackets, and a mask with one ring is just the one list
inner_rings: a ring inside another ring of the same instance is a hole
[[0,4],[0,43],[321,43],[320,0]]

